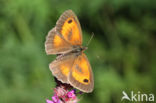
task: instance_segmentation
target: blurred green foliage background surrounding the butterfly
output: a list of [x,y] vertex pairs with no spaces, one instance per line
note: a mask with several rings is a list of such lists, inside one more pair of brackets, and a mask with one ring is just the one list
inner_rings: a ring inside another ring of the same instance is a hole
[[0,0],[0,103],[45,103],[55,82],[44,42],[59,16],[78,16],[95,88],[80,103],[156,94],[156,0]]

